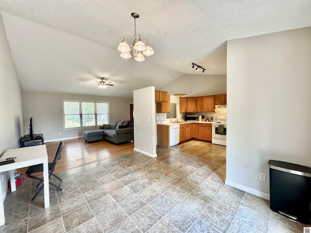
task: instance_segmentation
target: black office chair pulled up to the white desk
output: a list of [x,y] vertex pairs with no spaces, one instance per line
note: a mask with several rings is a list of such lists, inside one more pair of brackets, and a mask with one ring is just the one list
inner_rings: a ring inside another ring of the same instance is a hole
[[[55,174],[53,174],[53,171],[54,171],[54,168],[55,168],[55,166],[56,166],[56,162],[57,162],[58,160],[60,160],[60,158],[61,158],[61,152],[62,152],[62,150],[63,150],[64,145],[65,145],[65,144],[64,144],[63,141],[61,141],[61,142],[59,143],[59,146],[58,146],[58,149],[57,149],[57,151],[56,151],[56,155],[55,155],[54,161],[53,161],[53,163],[49,163],[49,180],[50,180],[50,177],[51,177],[51,176],[57,178],[57,179],[58,179],[58,185],[59,185],[61,182],[63,182],[63,180],[62,180],[61,178],[59,178],[58,176],[56,176]],[[39,192],[42,190],[43,185],[44,185],[44,184],[42,184],[42,185],[40,186],[40,188],[38,188],[39,185],[40,185],[41,183],[43,183],[43,178],[39,178],[39,177],[35,177],[35,176],[32,176],[32,175],[31,175],[32,173],[36,173],[36,172],[43,172],[43,164],[37,164],[37,165],[29,166],[28,169],[27,169],[27,171],[25,172],[26,175],[27,175],[27,177],[30,177],[30,178],[33,178],[33,179],[36,179],[36,180],[39,180],[39,181],[40,181],[40,182],[35,186],[35,189],[36,189],[35,196],[34,196],[31,200],[35,200],[35,197],[39,194]],[[56,184],[52,183],[51,181],[49,181],[49,183],[50,183],[52,186],[54,186],[55,188],[57,188],[59,191],[61,191],[61,192],[64,191],[64,189],[62,189],[61,187],[59,187],[59,186],[57,186]]]

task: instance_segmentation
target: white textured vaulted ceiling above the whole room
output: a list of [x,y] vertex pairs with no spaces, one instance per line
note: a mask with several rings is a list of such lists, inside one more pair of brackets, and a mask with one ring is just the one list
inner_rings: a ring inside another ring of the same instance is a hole
[[[228,39],[311,26],[310,0],[0,0],[0,12],[23,90],[127,98],[192,62],[226,74]],[[141,63],[116,49],[134,39],[132,12],[155,50]],[[89,84],[100,77],[114,86]]]

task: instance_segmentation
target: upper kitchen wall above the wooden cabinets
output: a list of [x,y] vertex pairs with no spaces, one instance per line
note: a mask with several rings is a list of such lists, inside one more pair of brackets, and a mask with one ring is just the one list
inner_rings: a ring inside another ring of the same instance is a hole
[[169,95],[186,93],[188,97],[225,94],[226,75],[184,74],[159,88]]

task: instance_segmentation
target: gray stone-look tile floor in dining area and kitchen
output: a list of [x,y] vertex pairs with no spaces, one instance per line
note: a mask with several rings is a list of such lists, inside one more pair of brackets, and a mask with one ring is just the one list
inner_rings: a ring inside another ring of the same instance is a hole
[[138,152],[57,173],[30,201],[36,181],[8,191],[1,233],[302,233],[305,225],[270,211],[269,201],[225,185],[225,147],[190,141],[158,157]]

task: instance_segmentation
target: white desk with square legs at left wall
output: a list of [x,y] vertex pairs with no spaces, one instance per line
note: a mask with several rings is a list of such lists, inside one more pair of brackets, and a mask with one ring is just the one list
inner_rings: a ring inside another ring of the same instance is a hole
[[[48,166],[48,152],[45,145],[23,147],[17,149],[7,150],[0,158],[6,159],[16,157],[15,163],[0,166],[0,172],[10,171],[11,191],[16,191],[14,170],[32,166],[36,164],[43,164],[43,179],[44,179],[44,207],[50,207],[50,194],[49,194],[49,166]],[[4,206],[2,197],[2,187],[0,185],[0,226],[4,225]]]

